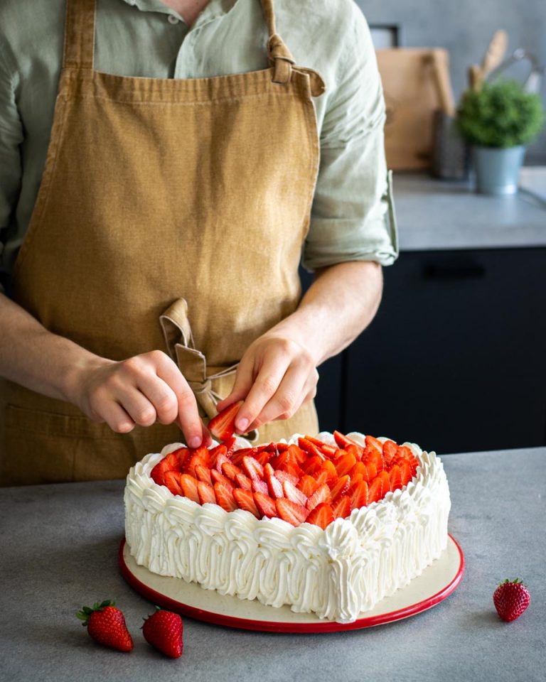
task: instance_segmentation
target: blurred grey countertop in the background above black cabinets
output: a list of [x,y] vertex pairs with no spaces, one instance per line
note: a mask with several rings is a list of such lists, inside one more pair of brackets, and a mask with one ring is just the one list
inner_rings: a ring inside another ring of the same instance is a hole
[[530,193],[480,195],[419,173],[393,187],[401,251],[546,247],[546,203]]

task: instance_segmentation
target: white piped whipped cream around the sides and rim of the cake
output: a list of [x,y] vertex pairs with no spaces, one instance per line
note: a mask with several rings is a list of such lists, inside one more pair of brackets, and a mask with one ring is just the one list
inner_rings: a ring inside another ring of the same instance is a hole
[[[362,433],[349,438],[364,443]],[[297,442],[298,435],[290,442]],[[331,433],[319,438],[335,444]],[[380,438],[379,440],[387,440]],[[181,447],[167,445],[129,471],[125,534],[139,565],[208,590],[294,612],[353,622],[439,558],[451,506],[444,467],[435,453],[410,447],[419,460],[413,480],[379,502],[354,509],[325,530],[256,519],[173,495],[151,478],[153,467]],[[248,447],[237,439],[237,448]]]

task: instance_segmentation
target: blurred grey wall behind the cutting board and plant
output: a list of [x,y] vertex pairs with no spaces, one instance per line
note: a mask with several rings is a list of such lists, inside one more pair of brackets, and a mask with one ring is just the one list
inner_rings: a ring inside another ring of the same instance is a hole
[[[449,50],[451,81],[458,99],[466,69],[481,63],[498,28],[508,31],[508,53],[523,47],[546,65],[546,0],[355,0],[368,23],[402,26],[402,47]],[[546,82],[542,82],[546,105]],[[546,130],[530,146],[527,163],[546,163]]]

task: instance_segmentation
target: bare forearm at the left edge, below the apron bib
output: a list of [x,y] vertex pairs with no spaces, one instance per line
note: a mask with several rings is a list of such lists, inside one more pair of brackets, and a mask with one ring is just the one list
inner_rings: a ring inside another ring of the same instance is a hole
[[70,400],[77,369],[99,358],[48,332],[26,310],[0,294],[0,376],[50,398]]

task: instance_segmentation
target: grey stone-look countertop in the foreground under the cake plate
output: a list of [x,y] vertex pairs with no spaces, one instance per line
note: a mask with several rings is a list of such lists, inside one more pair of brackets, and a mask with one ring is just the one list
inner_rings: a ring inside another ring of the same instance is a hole
[[[122,481],[0,489],[0,680],[10,682],[495,682],[544,679],[546,448],[446,455],[449,531],[466,572],[444,602],[415,617],[334,634],[267,634],[184,620],[184,654],[165,659],[141,637],[152,605],[117,568]],[[522,578],[517,621],[493,608],[496,583]],[[135,642],[96,645],[75,617],[114,598]]]

